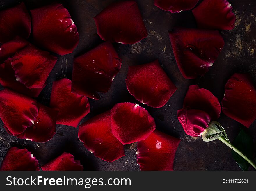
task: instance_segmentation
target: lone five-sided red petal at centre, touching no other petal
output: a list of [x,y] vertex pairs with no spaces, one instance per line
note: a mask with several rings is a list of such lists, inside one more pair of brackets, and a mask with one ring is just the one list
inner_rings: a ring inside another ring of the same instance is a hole
[[158,60],[130,66],[125,81],[131,95],[141,103],[154,108],[164,106],[177,90]]

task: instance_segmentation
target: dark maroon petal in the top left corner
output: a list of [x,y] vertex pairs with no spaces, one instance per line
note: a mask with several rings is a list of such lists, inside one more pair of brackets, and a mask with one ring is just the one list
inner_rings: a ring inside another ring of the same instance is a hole
[[24,3],[0,11],[0,43],[15,36],[28,38],[31,30],[31,18]]

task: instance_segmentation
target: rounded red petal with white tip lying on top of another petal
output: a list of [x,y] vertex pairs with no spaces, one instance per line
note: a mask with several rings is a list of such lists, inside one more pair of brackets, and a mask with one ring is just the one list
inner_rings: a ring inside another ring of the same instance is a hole
[[154,118],[134,103],[118,103],[111,109],[112,133],[123,144],[146,139],[156,128]]

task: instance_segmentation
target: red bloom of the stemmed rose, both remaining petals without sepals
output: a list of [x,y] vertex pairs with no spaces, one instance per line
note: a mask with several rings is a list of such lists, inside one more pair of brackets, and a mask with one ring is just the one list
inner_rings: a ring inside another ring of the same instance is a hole
[[178,119],[187,135],[200,137],[210,122],[219,118],[220,113],[221,106],[217,97],[209,90],[191,85],[183,109],[178,110]]

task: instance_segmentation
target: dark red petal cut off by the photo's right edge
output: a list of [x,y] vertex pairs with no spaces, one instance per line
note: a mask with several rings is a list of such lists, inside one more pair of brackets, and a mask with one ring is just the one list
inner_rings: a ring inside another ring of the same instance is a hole
[[222,111],[247,128],[256,119],[256,89],[248,74],[234,74],[225,85]]

